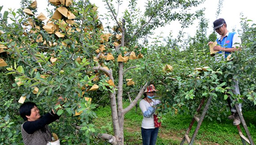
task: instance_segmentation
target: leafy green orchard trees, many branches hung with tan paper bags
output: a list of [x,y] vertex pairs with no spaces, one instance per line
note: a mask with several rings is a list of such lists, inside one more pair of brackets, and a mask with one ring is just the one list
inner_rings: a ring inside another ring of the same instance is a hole
[[[201,98],[209,96],[214,101],[208,120],[229,115],[228,96],[243,103],[243,111],[255,110],[256,29],[246,17],[241,16],[237,30],[241,51],[232,60],[215,63],[207,42],[217,35],[206,35],[210,27],[203,10],[189,11],[203,1],[148,1],[142,14],[131,0],[122,19],[115,7],[122,1],[103,2],[105,17],[114,25],[103,24],[97,5],[86,0],[50,0],[54,8],[47,15],[35,15],[36,2],[29,0],[22,0],[16,11],[0,11],[1,144],[22,143],[18,109],[24,99],[35,102],[41,114],[58,109],[61,118],[51,127],[63,144],[94,144],[98,138],[124,144],[125,114],[149,84],[159,90],[163,122],[166,114],[193,115]],[[46,16],[50,19],[44,22]],[[183,28],[196,19],[195,36],[183,39]],[[178,37],[162,41],[154,36],[156,28],[173,21],[182,24]],[[233,80],[240,82],[241,98],[230,91]],[[55,105],[59,97],[64,100]],[[101,106],[111,108],[110,133],[107,124],[95,127],[95,111]]]

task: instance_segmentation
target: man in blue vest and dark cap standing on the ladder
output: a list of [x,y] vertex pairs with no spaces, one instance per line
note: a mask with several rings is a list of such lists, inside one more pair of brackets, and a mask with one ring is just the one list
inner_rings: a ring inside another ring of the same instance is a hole
[[[213,22],[213,29],[216,31],[216,33],[220,34],[220,37],[216,39],[216,42],[218,45],[213,47],[213,50],[218,51],[215,54],[215,61],[219,62],[220,60],[224,60],[229,56],[232,52],[237,51],[240,49],[240,44],[241,44],[241,38],[238,36],[237,33],[235,32],[229,32],[227,31],[227,24],[226,21],[222,18],[217,19],[216,21]],[[210,45],[213,42],[209,42],[208,44]],[[240,90],[238,87],[238,82],[234,80],[235,86],[232,90],[232,92],[235,95],[240,95]],[[229,103],[230,111],[232,115],[230,115],[228,118],[229,119],[234,119],[233,124],[238,125],[241,123],[241,120],[237,114],[237,110],[235,107],[232,107],[232,100],[228,97],[227,102]],[[241,104],[238,105],[241,111]]]

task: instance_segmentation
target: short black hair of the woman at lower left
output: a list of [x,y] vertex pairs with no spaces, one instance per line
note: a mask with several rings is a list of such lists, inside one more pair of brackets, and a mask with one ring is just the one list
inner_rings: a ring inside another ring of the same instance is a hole
[[28,101],[19,107],[19,115],[21,115],[24,121],[27,121],[26,115],[30,116],[31,109],[34,108],[35,106],[36,106],[35,103]]

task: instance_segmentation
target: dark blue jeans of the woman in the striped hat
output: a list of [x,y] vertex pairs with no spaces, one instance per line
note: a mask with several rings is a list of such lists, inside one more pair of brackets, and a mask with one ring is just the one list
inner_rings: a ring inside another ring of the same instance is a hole
[[141,127],[143,145],[155,145],[159,127],[154,129],[144,129]]

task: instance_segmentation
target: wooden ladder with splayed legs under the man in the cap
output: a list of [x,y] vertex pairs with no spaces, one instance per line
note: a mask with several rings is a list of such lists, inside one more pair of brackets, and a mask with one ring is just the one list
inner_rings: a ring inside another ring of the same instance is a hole
[[[200,109],[202,108],[202,105],[204,105],[204,101],[205,101],[205,100],[206,100],[206,98],[202,98],[201,103],[200,103],[199,106],[198,106],[198,109],[196,109],[196,112],[197,112],[196,115],[199,114]],[[209,106],[210,106],[210,102],[211,102],[211,101],[212,101],[212,96],[208,98],[207,103],[206,103],[206,106],[204,107],[204,111],[202,111],[202,114],[201,114],[201,117],[200,117],[200,118],[198,118],[196,115],[194,115],[194,117],[193,117],[193,119],[192,119],[192,121],[191,121],[191,123],[190,123],[190,125],[189,125],[189,128],[187,129],[187,132],[185,133],[184,137],[182,138],[181,145],[184,144],[185,141],[187,141],[187,143],[189,143],[189,145],[192,145],[192,144],[194,143],[195,138],[196,138],[196,135],[198,134],[198,130],[199,130],[201,124],[202,124],[202,121],[204,120],[204,117],[206,116],[206,112],[207,112],[207,110],[209,109]],[[240,111],[240,109],[238,108],[238,105],[237,105],[237,104],[235,104],[235,109],[237,109],[238,115],[239,115],[239,117],[240,117],[240,119],[241,119],[241,123],[243,124],[244,130],[245,130],[245,132],[246,132],[246,134],[247,134],[247,137],[248,137],[248,138],[246,138],[246,137],[243,135],[243,133],[241,132],[240,125],[238,124],[238,125],[237,125],[238,134],[240,135],[240,138],[241,138],[241,141],[242,141],[243,145],[246,145],[246,143],[249,143],[249,144],[251,144],[251,145],[254,145],[254,141],[252,140],[252,137],[251,137],[251,135],[250,135],[250,132],[249,132],[249,130],[248,130],[248,128],[247,128],[247,125],[246,125],[246,123],[245,123],[245,121],[244,121],[243,115],[241,114],[241,111]],[[194,132],[192,138],[190,138],[190,137],[189,137],[189,132],[190,132],[190,130],[192,129],[192,126],[193,126],[193,124],[195,123],[195,121],[198,122],[198,125],[196,126],[196,129],[195,129],[195,132]]]

